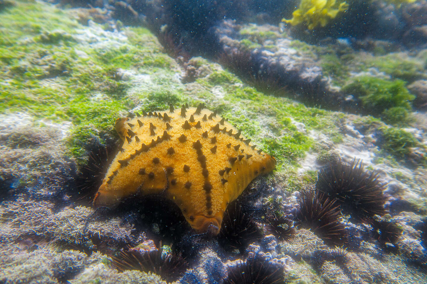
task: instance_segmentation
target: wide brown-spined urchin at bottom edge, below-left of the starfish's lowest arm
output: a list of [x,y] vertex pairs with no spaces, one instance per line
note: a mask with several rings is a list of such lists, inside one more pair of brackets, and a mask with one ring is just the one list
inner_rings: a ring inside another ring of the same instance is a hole
[[113,257],[113,264],[119,271],[140,270],[152,272],[168,282],[176,281],[188,268],[188,263],[179,254],[160,248],[129,248]]

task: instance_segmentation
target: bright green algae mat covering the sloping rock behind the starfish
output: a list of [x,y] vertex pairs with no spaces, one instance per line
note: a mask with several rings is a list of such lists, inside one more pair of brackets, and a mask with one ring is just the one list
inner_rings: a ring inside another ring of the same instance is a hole
[[[18,2],[8,14],[18,17],[25,9],[32,8]],[[167,109],[169,103],[176,106],[205,102],[208,108],[241,127],[243,135],[252,138],[260,149],[274,155],[279,172],[291,172],[298,166],[298,160],[312,149],[314,141],[308,132],[322,131],[333,141],[342,139],[336,126],[339,122],[336,113],[258,92],[201,57],[194,64],[208,66],[208,75],[197,78],[194,83],[182,84],[174,79],[175,74],[181,72],[180,67],[145,28],[126,28],[126,40],[96,47],[74,36],[88,28],[73,20],[66,10],[40,4],[32,15],[32,23],[38,26],[22,31],[9,26],[13,30],[8,39],[10,44],[0,45],[5,51],[12,45],[21,46],[19,51],[5,52],[8,57],[1,58],[1,66],[9,75],[1,82],[0,89],[9,96],[0,104],[0,110],[25,111],[35,118],[57,123],[70,121],[70,154],[80,163],[86,159],[85,145],[91,138],[99,141],[107,136],[117,138],[113,127],[117,117],[127,115],[130,109]],[[49,29],[47,23],[59,16],[65,20]],[[15,20],[19,22],[17,26],[29,24],[25,18]],[[260,42],[278,36],[271,32],[252,33]],[[108,32],[100,34],[100,37],[109,36]],[[32,40],[19,45],[23,38]],[[38,61],[42,57],[50,60]],[[44,69],[52,65],[56,66],[53,70]],[[135,86],[135,83],[141,84],[138,77],[123,80],[123,70],[146,76],[143,84]],[[193,90],[186,92],[190,86]],[[213,95],[215,88],[221,88],[222,98]],[[297,127],[295,123],[301,125]]]

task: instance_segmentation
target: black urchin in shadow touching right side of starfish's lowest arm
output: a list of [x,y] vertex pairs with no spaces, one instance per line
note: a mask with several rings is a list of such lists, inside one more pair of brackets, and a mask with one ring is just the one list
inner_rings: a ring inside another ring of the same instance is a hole
[[244,213],[237,202],[230,204],[222,219],[218,241],[223,247],[237,248],[243,252],[252,241],[260,238],[260,232],[254,219]]

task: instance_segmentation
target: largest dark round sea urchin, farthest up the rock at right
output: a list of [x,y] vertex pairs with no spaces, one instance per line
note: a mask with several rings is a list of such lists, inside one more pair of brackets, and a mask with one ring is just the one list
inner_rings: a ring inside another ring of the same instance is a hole
[[363,218],[384,215],[384,186],[378,180],[378,173],[366,172],[362,162],[354,159],[347,165],[339,159],[319,172],[316,189],[325,198],[337,199],[342,212],[353,217]]

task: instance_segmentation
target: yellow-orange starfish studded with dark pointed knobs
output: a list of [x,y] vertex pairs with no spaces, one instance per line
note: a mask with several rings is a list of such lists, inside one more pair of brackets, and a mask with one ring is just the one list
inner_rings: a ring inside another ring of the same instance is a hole
[[[94,199],[109,206],[131,195],[162,194],[180,207],[197,232],[217,235],[229,202],[275,158],[249,145],[241,131],[216,112],[182,106],[169,112],[120,118],[123,146]],[[158,136],[158,135],[161,135]]]

